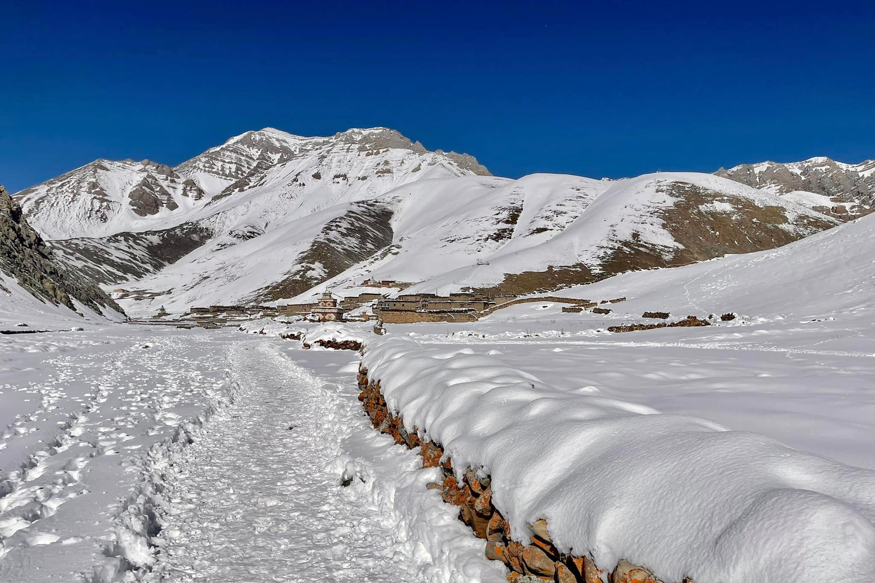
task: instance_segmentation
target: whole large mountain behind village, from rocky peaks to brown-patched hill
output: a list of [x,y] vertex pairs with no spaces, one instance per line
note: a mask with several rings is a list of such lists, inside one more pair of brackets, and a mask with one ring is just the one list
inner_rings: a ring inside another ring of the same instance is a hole
[[[344,293],[369,277],[521,294],[769,249],[838,223],[707,174],[492,177],[472,156],[387,128],[316,138],[266,128],[176,169],[98,165],[109,170],[16,196],[69,264],[107,288],[142,290],[124,305],[144,315]],[[137,206],[154,202],[137,190],[144,180],[164,189],[152,214]]]

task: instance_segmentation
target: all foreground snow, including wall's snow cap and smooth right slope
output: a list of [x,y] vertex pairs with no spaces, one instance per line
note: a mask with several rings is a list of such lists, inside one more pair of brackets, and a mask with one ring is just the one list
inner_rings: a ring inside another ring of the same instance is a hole
[[[372,428],[360,355],[296,331],[363,341],[388,406],[490,472],[521,538],[547,517],[561,550],[667,583],[866,580],[872,259],[830,237],[562,292],[628,297],[604,316],[0,337],[0,581],[505,580],[426,487],[439,470]],[[736,317],[606,330],[645,310]]]

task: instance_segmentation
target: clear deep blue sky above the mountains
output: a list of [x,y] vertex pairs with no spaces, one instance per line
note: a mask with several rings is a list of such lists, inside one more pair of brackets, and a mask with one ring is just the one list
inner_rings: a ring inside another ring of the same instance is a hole
[[493,173],[875,157],[875,3],[10,2],[0,183],[388,126]]

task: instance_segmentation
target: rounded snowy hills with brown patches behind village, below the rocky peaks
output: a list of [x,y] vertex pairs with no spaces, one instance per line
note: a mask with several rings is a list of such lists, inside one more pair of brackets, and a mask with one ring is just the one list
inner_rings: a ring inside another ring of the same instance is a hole
[[130,307],[144,313],[353,293],[367,278],[520,294],[773,248],[836,224],[704,174],[437,178],[288,215],[248,239],[220,235],[124,287],[160,294]]

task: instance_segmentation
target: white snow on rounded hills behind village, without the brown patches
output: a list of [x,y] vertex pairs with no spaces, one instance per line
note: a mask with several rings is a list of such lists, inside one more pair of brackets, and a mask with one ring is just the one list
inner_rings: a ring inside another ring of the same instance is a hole
[[[404,156],[409,154],[403,150]],[[327,274],[327,281],[287,298],[289,302],[310,302],[325,288],[353,295],[350,290],[367,278],[419,282],[410,288],[411,293],[445,294],[465,286],[494,285],[505,274],[543,271],[549,266],[584,263],[598,273],[613,249],[633,237],[669,257],[679,244],[654,213],[675,204],[663,187],[678,181],[718,192],[708,204],[709,212],[732,212],[739,202],[753,202],[779,206],[791,220],[799,215],[823,219],[805,206],[697,173],[666,172],[609,182],[548,174],[515,181],[420,178],[382,193],[346,189],[333,192],[328,200],[306,196],[294,212],[277,210],[288,208],[278,198],[282,190],[276,184],[282,183],[269,183],[211,205],[216,214],[209,219],[217,232],[245,223],[263,228],[264,234],[233,241],[231,246],[226,246],[225,239],[214,239],[135,284],[170,295],[123,301],[123,307],[137,316],[155,313],[158,305],[183,313],[192,306],[251,301],[258,289],[281,281],[293,267],[303,265],[301,253],[311,248],[312,241],[344,245],[343,229],[328,225],[350,217],[355,207],[354,203],[334,204],[339,196],[367,198],[391,212],[392,244],[339,274]],[[508,226],[514,212],[518,215]],[[355,223],[353,228],[362,227]],[[478,260],[489,265],[478,265]],[[284,273],[276,269],[277,264],[287,266]]]

